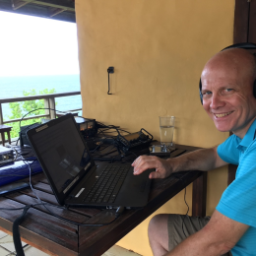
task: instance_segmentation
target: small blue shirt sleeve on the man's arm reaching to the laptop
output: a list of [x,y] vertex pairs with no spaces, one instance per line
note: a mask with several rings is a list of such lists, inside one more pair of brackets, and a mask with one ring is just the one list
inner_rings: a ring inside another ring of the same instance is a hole
[[237,137],[232,135],[228,137],[224,143],[218,146],[217,153],[219,157],[225,162],[238,165],[239,151],[237,149]]

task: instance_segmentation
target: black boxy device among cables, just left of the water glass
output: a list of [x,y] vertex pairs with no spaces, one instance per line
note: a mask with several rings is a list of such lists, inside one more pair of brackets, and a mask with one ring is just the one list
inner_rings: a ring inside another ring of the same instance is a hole
[[128,135],[118,134],[115,140],[117,148],[125,154],[133,149],[149,147],[152,141],[153,136],[144,128]]

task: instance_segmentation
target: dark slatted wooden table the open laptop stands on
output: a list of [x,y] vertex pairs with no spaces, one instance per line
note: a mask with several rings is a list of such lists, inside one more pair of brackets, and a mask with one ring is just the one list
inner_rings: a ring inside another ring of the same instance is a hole
[[[177,145],[171,157],[195,150],[193,147]],[[180,172],[178,176],[154,180],[147,207],[141,210],[125,210],[115,222],[105,226],[82,226],[59,220],[47,212],[43,206],[29,210],[20,226],[22,240],[50,255],[99,256],[119,239],[141,224],[164,203],[194,181],[193,215],[204,216],[206,207],[206,172]],[[32,186],[43,201],[58,205],[43,173],[32,176]],[[202,196],[204,195],[204,196]],[[38,203],[31,189],[0,197],[1,208],[20,208]],[[63,210],[48,207],[54,214],[83,224],[102,224],[114,219],[115,210],[76,208]],[[0,229],[12,233],[12,224],[22,214],[22,210],[1,211]],[[145,235],[147,235],[145,233]]]

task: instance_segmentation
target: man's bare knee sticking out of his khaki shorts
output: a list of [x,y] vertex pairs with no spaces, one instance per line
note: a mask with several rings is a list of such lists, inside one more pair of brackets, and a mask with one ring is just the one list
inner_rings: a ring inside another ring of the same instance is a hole
[[149,224],[149,239],[154,256],[168,252],[168,216],[156,215]]

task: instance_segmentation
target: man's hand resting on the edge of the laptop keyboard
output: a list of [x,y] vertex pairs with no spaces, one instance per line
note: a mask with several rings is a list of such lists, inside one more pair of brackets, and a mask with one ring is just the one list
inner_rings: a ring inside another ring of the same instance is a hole
[[170,160],[161,160],[155,156],[141,156],[132,163],[134,167],[134,175],[139,175],[146,169],[156,168],[151,172],[150,178],[165,178],[172,173],[172,165]]

